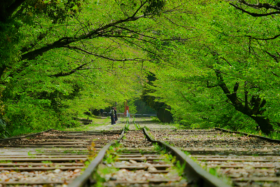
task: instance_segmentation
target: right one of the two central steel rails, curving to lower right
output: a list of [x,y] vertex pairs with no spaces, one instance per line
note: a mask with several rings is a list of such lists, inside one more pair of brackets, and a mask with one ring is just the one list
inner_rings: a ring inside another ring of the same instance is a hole
[[169,144],[161,140],[154,140],[148,134],[145,127],[143,127],[143,132],[146,137],[153,143],[158,143],[160,146],[166,147],[166,149],[172,151],[172,153],[180,161],[181,165],[184,165],[186,177],[189,180],[195,180],[194,182],[199,187],[230,187],[230,185],[225,184],[222,180],[216,178],[215,176],[202,169],[197,163],[195,163],[191,158],[184,154],[184,152],[180,151],[176,147],[170,146]]

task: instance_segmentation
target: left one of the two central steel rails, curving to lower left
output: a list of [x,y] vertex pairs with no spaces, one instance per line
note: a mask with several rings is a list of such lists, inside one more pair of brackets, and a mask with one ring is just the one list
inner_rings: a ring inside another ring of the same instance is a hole
[[[126,124],[127,127],[127,124]],[[125,127],[122,130],[119,138],[116,141],[110,141],[107,143],[97,154],[97,156],[91,161],[90,165],[84,170],[83,174],[78,176],[74,179],[68,187],[85,187],[91,186],[95,181],[92,179],[92,176],[97,169],[98,165],[101,163],[102,159],[104,158],[106,151],[109,149],[110,146],[113,146],[115,143],[118,143],[124,136]]]

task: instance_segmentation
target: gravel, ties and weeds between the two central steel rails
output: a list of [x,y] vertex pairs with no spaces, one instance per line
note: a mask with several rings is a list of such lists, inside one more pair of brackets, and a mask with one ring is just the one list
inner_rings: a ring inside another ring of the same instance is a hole
[[175,160],[170,160],[169,156],[166,157],[155,150],[141,130],[130,130],[125,137],[120,141],[122,148],[118,155],[111,161],[105,160],[99,165],[99,170],[104,168],[114,170],[111,174],[101,175],[105,182],[99,184],[100,186],[185,187],[188,185],[188,182],[176,172],[173,163]]

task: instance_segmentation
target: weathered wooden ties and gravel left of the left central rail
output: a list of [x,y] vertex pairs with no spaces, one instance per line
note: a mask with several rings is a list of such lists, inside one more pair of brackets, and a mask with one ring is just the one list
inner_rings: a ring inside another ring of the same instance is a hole
[[118,131],[49,130],[0,142],[0,184],[3,186],[67,185],[91,157],[119,138]]

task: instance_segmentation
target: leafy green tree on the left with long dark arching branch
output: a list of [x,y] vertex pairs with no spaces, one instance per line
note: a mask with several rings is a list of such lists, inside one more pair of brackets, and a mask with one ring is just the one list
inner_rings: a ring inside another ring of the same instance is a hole
[[1,3],[2,101],[19,126],[16,117],[25,124],[40,118],[24,115],[35,107],[60,126],[63,116],[133,97],[131,82],[140,83],[150,62],[168,59],[158,48],[184,40],[161,32],[159,15],[174,13],[163,0]]

